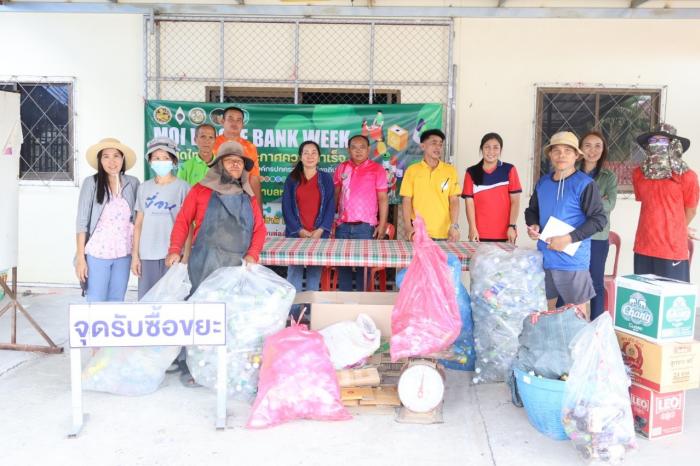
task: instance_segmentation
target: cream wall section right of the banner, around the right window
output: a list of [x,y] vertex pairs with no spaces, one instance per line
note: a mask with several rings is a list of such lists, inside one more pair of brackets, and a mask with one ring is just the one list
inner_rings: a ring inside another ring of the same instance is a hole
[[[533,186],[536,83],[667,85],[666,120],[692,141],[685,159],[700,170],[699,21],[460,19],[455,62],[458,168],[478,161],[483,134],[500,133],[503,158],[517,166],[524,182],[523,208]],[[620,195],[611,227],[622,238],[623,274],[632,273],[638,218],[639,203]],[[522,216],[519,224],[518,243],[532,245]],[[699,258],[693,283],[700,283]]]

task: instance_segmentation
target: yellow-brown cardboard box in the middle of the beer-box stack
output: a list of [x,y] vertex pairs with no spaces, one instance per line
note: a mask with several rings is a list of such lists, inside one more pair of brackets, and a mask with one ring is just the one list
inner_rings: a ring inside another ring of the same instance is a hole
[[632,381],[659,393],[700,386],[700,342],[653,343],[630,333],[615,332]]

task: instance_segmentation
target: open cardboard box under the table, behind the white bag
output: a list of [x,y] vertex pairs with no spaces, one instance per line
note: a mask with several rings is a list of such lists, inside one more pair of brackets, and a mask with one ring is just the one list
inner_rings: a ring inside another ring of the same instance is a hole
[[398,292],[304,291],[297,293],[294,303],[311,306],[312,330],[355,320],[364,313],[372,318],[382,338],[388,338],[391,336],[391,311],[398,295]]

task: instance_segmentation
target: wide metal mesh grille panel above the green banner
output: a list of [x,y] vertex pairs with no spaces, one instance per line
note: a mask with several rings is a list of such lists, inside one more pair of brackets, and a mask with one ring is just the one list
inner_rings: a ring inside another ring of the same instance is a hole
[[[240,103],[442,103],[452,160],[453,37],[450,19],[147,17],[144,94]],[[398,209],[399,238],[401,216]]]

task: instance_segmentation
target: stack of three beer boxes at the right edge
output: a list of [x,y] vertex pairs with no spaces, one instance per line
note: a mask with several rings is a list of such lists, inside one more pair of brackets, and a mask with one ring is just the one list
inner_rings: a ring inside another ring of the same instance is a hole
[[700,385],[695,285],[655,275],[617,279],[615,329],[632,376],[635,429],[648,439],[683,432],[685,391]]

